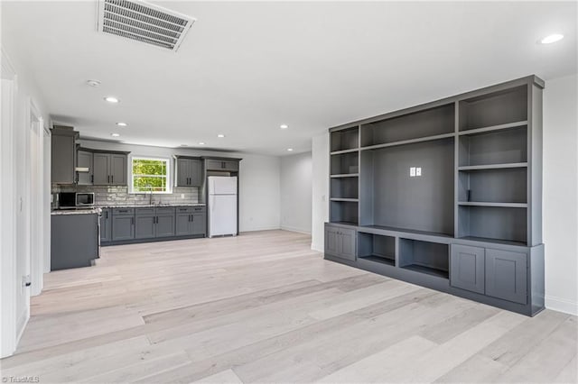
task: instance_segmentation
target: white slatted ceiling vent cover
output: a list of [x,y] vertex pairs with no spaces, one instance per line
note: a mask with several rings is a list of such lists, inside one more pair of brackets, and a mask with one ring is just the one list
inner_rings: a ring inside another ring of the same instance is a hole
[[99,0],[98,31],[178,50],[196,19],[144,1]]

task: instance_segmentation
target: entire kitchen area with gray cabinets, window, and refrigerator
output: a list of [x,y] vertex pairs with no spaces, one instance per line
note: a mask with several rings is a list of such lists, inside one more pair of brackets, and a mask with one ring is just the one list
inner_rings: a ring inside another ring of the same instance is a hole
[[139,158],[59,125],[51,153],[51,270],[94,265],[109,245],[238,234],[241,159]]

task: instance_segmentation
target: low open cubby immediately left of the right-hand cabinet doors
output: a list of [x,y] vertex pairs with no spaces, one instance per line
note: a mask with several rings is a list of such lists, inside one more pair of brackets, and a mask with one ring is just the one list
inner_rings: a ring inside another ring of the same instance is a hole
[[449,278],[450,249],[448,244],[399,239],[399,266],[405,270]]

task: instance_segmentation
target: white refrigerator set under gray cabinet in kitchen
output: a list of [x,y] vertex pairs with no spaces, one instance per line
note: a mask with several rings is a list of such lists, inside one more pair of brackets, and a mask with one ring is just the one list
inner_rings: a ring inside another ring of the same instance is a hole
[[209,237],[237,234],[237,177],[209,178]]

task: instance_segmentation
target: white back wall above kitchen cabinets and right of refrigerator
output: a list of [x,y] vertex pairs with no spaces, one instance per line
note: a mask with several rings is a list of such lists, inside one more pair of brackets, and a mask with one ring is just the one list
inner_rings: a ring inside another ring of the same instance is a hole
[[[81,128],[79,129],[82,134]],[[224,156],[243,159],[239,165],[239,231],[279,229],[280,160],[275,156],[247,153],[197,151],[188,148],[165,148],[81,140],[81,145],[93,149],[130,151],[133,155],[172,157]]]

